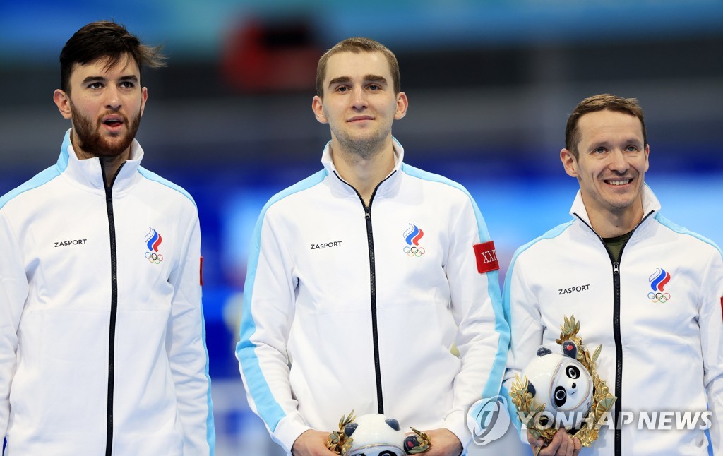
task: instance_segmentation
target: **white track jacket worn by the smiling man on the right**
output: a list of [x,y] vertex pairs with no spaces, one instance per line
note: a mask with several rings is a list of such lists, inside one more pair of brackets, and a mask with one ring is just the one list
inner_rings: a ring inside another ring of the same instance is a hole
[[613,429],[611,418],[581,456],[707,455],[708,424],[714,453],[723,454],[721,251],[659,209],[644,186],[645,216],[617,264],[578,192],[573,220],[518,249],[505,278],[505,390],[539,345],[559,350],[565,316],[580,322],[591,354],[602,345],[597,369],[618,397],[612,417],[622,425]]

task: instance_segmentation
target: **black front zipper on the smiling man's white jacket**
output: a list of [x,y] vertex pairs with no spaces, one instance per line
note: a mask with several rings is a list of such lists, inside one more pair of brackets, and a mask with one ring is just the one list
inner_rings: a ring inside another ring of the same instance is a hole
[[[638,226],[640,226],[653,212],[654,211],[652,210],[648,212],[648,214],[643,217],[637,225],[635,225],[633,231],[630,231],[628,241],[630,241],[630,238],[633,237],[633,233],[635,233],[638,229]],[[607,251],[607,256],[609,257],[610,262],[612,263],[612,335],[615,339],[615,396],[617,396],[617,400],[615,400],[615,421],[613,421],[613,423],[615,423],[615,456],[622,456],[623,429],[620,429],[620,425],[618,423],[618,420],[620,419],[620,410],[622,410],[623,407],[623,339],[620,336],[620,262],[616,262],[612,257],[612,254],[607,249],[607,246],[605,246],[603,238],[579,215],[575,214],[575,216],[579,218],[580,221],[588,228],[590,228],[590,231],[595,233],[597,238],[599,238],[600,242],[602,242],[602,246],[605,248],[605,251]],[[625,241],[625,244],[620,247],[621,260],[623,259],[623,250],[625,250],[625,246],[628,245],[628,241]]]

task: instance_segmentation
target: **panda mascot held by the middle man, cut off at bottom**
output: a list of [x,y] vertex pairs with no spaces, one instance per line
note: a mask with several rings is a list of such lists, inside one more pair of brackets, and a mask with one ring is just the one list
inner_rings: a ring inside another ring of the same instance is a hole
[[341,456],[407,456],[429,449],[429,436],[410,428],[405,436],[399,421],[380,413],[354,416],[354,410],[339,420],[339,430],[329,434],[326,447]]

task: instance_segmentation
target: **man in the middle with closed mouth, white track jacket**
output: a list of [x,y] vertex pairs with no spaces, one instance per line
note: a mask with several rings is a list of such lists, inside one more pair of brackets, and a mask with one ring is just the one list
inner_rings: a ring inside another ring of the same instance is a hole
[[331,131],[324,168],[257,223],[236,356],[252,409],[294,455],[333,455],[329,434],[354,410],[456,456],[469,408],[500,388],[495,247],[461,185],[403,163],[391,129],[407,106],[388,48],[331,48],[312,103]]

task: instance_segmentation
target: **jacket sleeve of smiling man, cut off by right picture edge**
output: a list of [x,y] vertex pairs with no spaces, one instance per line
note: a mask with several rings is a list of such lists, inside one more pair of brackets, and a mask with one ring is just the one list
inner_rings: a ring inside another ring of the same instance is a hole
[[703,384],[712,412],[711,444],[714,455],[723,455],[723,260],[716,251],[701,278],[700,300],[701,349],[703,352]]

